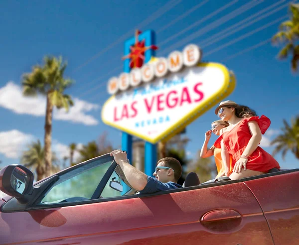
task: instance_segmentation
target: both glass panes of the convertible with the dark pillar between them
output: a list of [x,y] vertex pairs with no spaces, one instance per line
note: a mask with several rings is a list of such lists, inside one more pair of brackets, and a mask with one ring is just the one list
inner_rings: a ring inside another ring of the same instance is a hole
[[118,197],[134,194],[135,191],[110,155],[94,158],[57,175],[59,180],[40,204]]

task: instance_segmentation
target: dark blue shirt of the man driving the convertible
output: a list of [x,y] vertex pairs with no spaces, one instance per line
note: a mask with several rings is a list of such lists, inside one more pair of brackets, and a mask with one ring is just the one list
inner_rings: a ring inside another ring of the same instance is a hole
[[139,194],[154,193],[157,191],[166,191],[178,188],[182,188],[182,186],[171,181],[167,183],[162,183],[161,181],[158,181],[156,178],[148,176],[148,183],[146,187],[139,192]]

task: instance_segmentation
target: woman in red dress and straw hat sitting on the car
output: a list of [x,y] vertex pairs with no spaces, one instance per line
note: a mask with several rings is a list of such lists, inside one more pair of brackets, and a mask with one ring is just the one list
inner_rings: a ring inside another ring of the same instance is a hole
[[215,114],[229,123],[221,129],[220,137],[214,144],[221,148],[226,176],[229,175],[230,155],[233,172],[229,177],[232,180],[268,173],[273,168],[280,169],[273,156],[259,146],[262,134],[270,126],[269,118],[264,115],[259,118],[250,108],[233,101],[221,102]]

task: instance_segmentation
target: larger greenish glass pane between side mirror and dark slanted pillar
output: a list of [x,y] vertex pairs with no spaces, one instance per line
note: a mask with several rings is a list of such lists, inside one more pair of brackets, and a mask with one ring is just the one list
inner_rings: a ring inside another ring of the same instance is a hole
[[111,157],[100,157],[62,174],[40,204],[91,199],[112,161]]

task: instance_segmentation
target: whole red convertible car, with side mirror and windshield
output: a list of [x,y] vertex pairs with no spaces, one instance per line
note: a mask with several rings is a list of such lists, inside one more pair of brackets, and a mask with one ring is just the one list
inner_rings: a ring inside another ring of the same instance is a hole
[[140,195],[109,154],[0,171],[0,244],[298,245],[299,169]]

